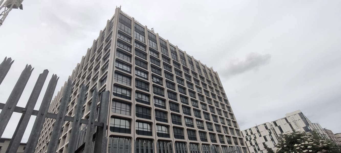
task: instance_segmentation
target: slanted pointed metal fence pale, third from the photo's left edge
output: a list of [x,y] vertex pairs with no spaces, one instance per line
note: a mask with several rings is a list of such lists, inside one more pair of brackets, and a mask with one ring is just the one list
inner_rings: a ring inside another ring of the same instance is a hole
[[20,141],[23,138],[24,132],[27,128],[27,124],[30,121],[34,106],[38,100],[38,97],[40,95],[40,92],[43,88],[43,85],[45,83],[46,77],[48,74],[48,70],[44,70],[43,73],[39,74],[38,80],[36,81],[32,93],[30,95],[30,98],[28,99],[28,102],[26,104],[25,109],[23,109],[23,113],[21,114],[21,118],[19,120],[19,123],[17,125],[17,128],[15,129],[15,132],[12,136],[12,139],[10,141],[10,144],[8,146],[8,149],[6,153],[16,153],[18,150],[18,147],[20,145]]

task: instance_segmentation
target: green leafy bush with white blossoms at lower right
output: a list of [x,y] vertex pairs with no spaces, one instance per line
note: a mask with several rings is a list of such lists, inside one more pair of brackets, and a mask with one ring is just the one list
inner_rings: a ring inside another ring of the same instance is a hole
[[340,153],[331,140],[325,140],[315,131],[281,134],[275,145],[275,153]]

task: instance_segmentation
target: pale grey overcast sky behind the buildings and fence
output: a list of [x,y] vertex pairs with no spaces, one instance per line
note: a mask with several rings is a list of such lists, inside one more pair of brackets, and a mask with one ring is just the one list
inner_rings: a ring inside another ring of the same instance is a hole
[[[0,86],[2,102],[27,63],[35,69],[18,106],[25,106],[44,69],[48,79],[53,73],[60,77],[59,90],[115,6],[122,5],[122,11],[218,71],[241,130],[300,109],[312,122],[341,132],[339,0],[26,0],[23,5],[0,27],[0,57],[15,60]],[[15,114],[4,137],[11,137],[18,119]],[[28,133],[23,141],[27,138]]]

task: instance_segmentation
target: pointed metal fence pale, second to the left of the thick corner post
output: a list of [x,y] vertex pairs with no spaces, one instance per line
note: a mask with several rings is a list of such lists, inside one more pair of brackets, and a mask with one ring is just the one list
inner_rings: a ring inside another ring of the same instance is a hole
[[82,84],[77,99],[75,116],[73,117],[72,129],[68,145],[68,153],[74,153],[77,147],[77,137],[79,136],[80,119],[82,114],[83,105],[85,102],[85,85]]

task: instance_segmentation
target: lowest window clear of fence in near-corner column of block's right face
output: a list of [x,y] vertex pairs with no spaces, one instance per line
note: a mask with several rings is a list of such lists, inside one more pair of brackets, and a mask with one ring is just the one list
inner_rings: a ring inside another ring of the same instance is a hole
[[129,119],[119,117],[110,118],[110,131],[118,133],[131,133],[131,125]]

